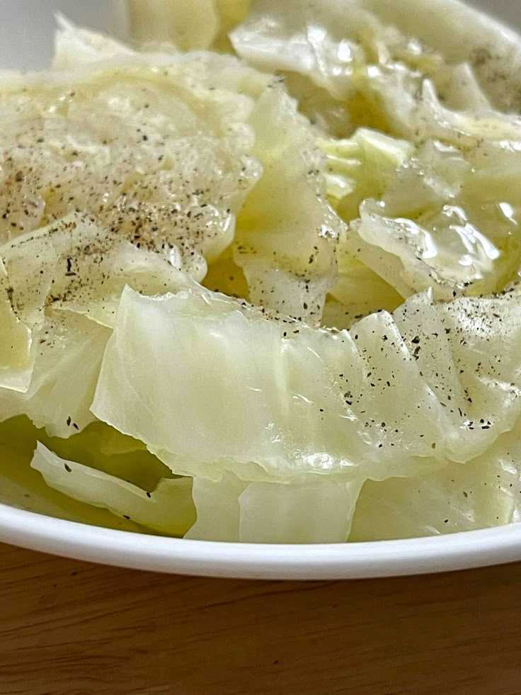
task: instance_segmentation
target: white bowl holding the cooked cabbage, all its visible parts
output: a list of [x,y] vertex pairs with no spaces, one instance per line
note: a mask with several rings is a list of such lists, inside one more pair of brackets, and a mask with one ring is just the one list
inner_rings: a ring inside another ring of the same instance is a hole
[[[427,0],[418,0],[425,3]],[[430,0],[430,5],[446,0]],[[474,0],[521,26],[521,5]],[[124,37],[124,0],[0,0],[0,67],[40,67],[52,52],[53,12]],[[505,31],[497,26],[498,32]],[[143,570],[260,579],[343,579],[459,570],[521,560],[521,524],[403,541],[273,546],[184,541],[76,524],[0,504],[0,541]]]

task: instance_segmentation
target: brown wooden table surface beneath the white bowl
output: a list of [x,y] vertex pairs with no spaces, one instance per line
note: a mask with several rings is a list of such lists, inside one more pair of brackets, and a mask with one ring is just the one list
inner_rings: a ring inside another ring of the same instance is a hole
[[0,566],[2,695],[521,693],[521,564],[246,582],[0,546]]

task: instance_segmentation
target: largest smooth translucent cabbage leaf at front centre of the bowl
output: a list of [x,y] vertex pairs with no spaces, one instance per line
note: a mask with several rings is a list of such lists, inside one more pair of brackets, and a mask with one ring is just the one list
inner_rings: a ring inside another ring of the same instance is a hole
[[450,427],[387,312],[332,334],[191,290],[125,291],[92,410],[175,473],[251,482],[409,475]]

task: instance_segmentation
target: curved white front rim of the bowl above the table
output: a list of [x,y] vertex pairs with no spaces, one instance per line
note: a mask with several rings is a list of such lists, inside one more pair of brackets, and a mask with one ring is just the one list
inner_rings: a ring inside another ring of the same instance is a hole
[[521,523],[397,541],[275,545],[118,531],[6,504],[0,504],[0,541],[136,570],[265,580],[396,577],[521,560]]

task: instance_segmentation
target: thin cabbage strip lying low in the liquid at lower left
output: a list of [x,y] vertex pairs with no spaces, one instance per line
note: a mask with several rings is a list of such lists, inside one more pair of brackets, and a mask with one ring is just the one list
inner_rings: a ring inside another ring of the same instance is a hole
[[153,531],[181,536],[195,521],[190,478],[161,480],[156,490],[146,492],[101,470],[59,458],[42,443],[30,465],[64,495]]

